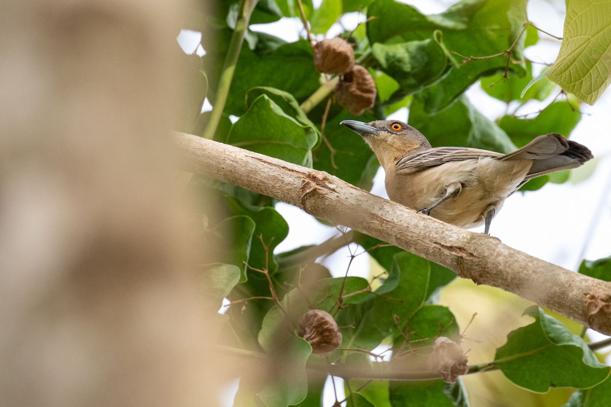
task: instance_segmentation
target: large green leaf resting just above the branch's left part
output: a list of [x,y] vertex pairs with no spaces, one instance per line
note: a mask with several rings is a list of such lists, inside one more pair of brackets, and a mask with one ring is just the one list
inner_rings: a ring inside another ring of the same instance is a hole
[[233,123],[226,142],[294,164],[312,166],[316,132],[299,123],[267,95],[252,101],[247,112]]

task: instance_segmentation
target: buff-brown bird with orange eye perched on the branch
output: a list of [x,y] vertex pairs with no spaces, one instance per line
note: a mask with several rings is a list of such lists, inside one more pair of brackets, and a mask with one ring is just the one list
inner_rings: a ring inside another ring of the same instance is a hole
[[417,129],[397,120],[343,120],[361,135],[386,172],[390,200],[461,228],[485,225],[529,179],[576,168],[590,149],[560,134],[540,135],[513,153],[431,147]]

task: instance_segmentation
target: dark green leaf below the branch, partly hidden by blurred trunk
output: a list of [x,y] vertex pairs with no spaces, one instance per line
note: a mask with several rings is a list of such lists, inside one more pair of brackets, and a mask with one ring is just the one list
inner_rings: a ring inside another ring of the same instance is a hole
[[[233,216],[222,220],[212,231],[209,239],[224,242],[224,250],[211,253],[214,261],[233,264],[240,269],[240,283],[246,281],[246,264],[251,251],[255,222],[247,216]],[[229,294],[229,292],[227,292]],[[225,295],[227,295],[225,294]]]

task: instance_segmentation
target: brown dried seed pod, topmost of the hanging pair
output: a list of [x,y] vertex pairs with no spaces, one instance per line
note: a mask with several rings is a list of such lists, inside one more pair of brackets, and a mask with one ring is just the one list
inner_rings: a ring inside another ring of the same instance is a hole
[[314,66],[322,73],[345,73],[354,67],[354,49],[340,37],[318,41],[314,45]]

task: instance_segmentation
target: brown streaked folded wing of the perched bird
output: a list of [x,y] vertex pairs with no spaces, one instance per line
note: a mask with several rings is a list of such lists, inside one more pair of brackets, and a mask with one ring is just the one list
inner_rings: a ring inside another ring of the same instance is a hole
[[468,147],[437,147],[408,154],[397,161],[397,172],[413,173],[436,167],[449,161],[477,160],[483,157],[502,157],[503,154]]

